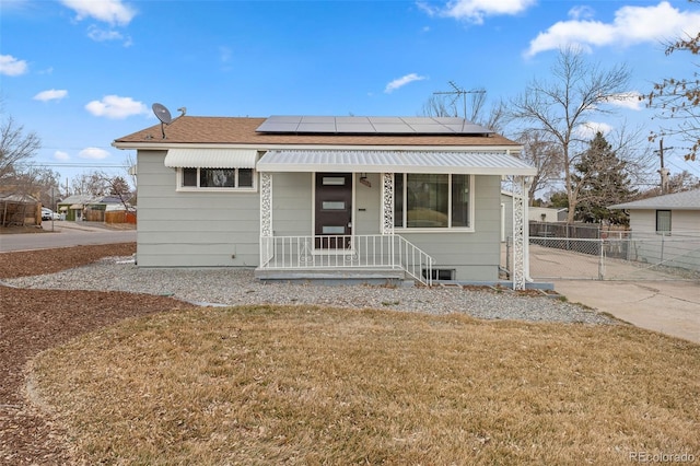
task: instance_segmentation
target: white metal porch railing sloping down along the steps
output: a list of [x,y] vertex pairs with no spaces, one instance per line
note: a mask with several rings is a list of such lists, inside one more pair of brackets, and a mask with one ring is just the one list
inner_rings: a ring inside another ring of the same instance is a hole
[[399,235],[260,237],[260,269],[392,268],[431,286],[433,264]]

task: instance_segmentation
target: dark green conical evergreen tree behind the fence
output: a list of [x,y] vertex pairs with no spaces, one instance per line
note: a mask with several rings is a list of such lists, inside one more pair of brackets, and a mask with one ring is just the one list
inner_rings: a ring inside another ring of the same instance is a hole
[[617,158],[612,147],[598,131],[575,165],[573,182],[579,191],[576,220],[592,223],[606,221],[625,225],[629,223],[625,212],[607,208],[614,203],[626,202],[637,194],[626,165],[627,163]]

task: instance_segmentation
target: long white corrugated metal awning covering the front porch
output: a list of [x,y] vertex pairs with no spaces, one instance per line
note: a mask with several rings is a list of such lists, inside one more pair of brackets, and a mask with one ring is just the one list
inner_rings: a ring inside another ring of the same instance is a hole
[[499,152],[273,150],[262,155],[258,172],[455,173],[535,175],[524,161]]

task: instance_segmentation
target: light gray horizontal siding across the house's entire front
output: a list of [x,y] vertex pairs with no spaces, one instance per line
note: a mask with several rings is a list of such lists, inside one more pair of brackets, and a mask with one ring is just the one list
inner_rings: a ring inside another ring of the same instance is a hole
[[[137,260],[140,267],[257,267],[259,193],[177,191],[176,171],[164,166],[165,151],[139,151]],[[273,173],[272,231],[276,236],[313,233],[313,174]],[[353,232],[382,230],[382,177],[371,186],[354,177]],[[259,189],[259,184],[258,184]],[[474,232],[397,234],[456,270],[460,281],[495,281],[500,263],[501,180],[476,176]]]

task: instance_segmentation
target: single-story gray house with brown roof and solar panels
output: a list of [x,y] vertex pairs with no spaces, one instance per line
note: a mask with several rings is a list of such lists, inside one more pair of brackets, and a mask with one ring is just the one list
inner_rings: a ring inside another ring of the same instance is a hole
[[136,150],[140,267],[255,267],[260,279],[497,282],[513,179],[525,288],[522,147],[462,118],[180,116]]

